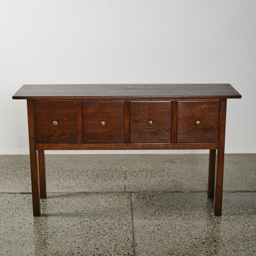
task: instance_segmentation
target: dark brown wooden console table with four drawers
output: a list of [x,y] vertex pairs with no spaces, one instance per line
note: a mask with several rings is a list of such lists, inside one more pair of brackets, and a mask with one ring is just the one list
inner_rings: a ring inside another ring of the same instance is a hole
[[227,99],[240,97],[230,84],[22,86],[12,99],[27,100],[34,216],[51,149],[209,149],[207,194],[220,216]]

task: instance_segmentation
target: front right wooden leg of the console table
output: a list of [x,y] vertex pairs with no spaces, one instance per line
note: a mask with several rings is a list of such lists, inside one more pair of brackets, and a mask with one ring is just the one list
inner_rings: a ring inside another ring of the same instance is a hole
[[215,199],[214,199],[215,216],[221,216],[222,214],[226,108],[227,108],[227,99],[220,100],[219,142],[218,142],[219,145],[217,150],[217,167],[216,167]]

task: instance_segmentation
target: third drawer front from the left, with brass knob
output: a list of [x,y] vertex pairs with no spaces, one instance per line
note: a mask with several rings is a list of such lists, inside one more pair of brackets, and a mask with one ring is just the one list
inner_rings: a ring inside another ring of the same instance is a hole
[[130,142],[168,143],[171,141],[172,102],[130,102]]

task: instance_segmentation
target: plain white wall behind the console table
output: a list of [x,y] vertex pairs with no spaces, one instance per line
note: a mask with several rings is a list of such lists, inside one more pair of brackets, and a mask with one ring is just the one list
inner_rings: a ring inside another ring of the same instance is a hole
[[0,0],[0,154],[28,154],[22,84],[86,83],[230,83],[226,152],[256,153],[255,13],[255,0]]

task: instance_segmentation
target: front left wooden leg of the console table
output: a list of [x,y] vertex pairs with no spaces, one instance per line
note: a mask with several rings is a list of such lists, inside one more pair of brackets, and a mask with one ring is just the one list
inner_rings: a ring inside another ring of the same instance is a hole
[[39,177],[37,169],[36,130],[34,120],[34,101],[27,100],[27,121],[29,126],[29,155],[32,186],[33,215],[40,216]]

